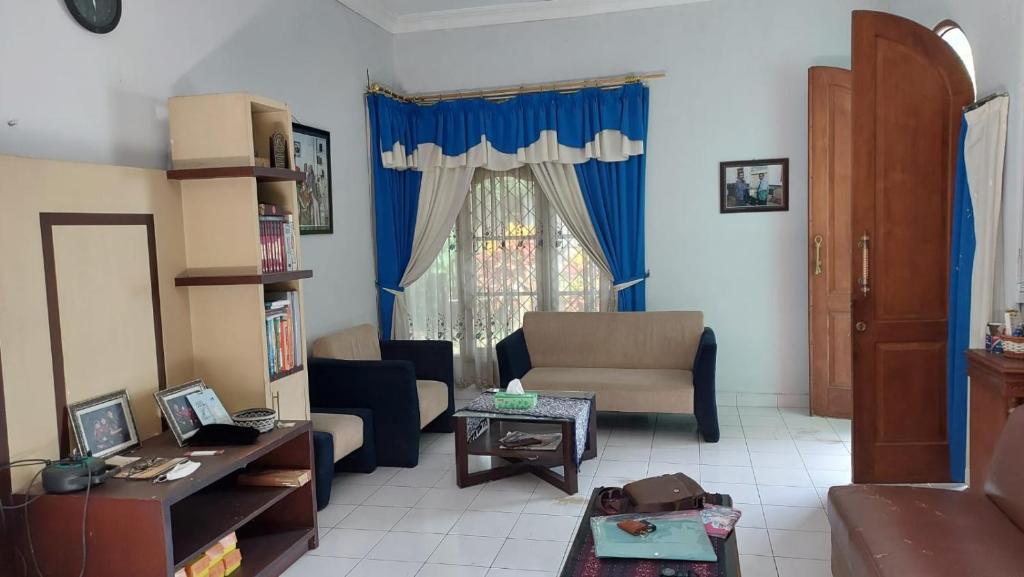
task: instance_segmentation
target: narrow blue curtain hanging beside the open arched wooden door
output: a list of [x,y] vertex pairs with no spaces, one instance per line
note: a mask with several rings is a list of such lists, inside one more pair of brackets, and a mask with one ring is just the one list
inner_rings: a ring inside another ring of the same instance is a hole
[[961,126],[956,162],[956,190],[953,193],[952,250],[949,256],[949,334],[946,343],[946,411],[949,431],[949,472],[954,483],[963,483],[967,470],[967,356],[971,343],[971,282],[974,275],[974,207],[967,178],[965,142],[969,130]]

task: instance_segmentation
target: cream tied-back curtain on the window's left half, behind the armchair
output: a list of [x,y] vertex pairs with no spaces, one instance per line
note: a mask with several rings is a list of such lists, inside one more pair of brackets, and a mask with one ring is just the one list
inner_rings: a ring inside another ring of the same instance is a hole
[[444,245],[459,210],[469,192],[469,182],[474,168],[457,166],[454,168],[430,168],[423,172],[420,183],[420,201],[416,212],[416,231],[413,236],[413,253],[406,266],[398,286],[402,290],[394,292],[392,314],[392,338],[412,338],[409,323],[409,308],[406,304],[404,289],[416,282],[430,267],[437,253]]

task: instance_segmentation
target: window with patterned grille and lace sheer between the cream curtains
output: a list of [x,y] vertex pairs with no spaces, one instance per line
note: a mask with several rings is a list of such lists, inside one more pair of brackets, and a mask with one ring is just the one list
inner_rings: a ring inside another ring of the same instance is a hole
[[451,339],[457,379],[497,383],[495,345],[529,311],[596,312],[609,283],[529,167],[477,169],[447,243],[406,291],[413,338]]

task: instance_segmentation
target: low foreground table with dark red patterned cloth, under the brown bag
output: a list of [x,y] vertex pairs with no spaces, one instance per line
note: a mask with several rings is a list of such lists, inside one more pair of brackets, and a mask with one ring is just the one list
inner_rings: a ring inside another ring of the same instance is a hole
[[[687,561],[655,561],[646,559],[598,559],[594,553],[594,535],[590,530],[590,518],[603,514],[598,506],[601,489],[594,489],[587,511],[577,528],[565,565],[559,577],[658,577],[663,571],[671,569],[677,577],[739,577],[739,549],[736,546],[736,532],[725,539],[712,537],[711,543],[718,554],[717,563],[691,563]],[[709,502],[732,506],[728,495],[710,496]],[[718,497],[717,499],[715,497]]]

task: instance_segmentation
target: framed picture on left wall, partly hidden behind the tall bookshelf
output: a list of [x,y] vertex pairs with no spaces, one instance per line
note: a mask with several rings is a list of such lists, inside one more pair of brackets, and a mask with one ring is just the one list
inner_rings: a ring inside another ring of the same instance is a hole
[[292,124],[295,140],[295,169],[306,175],[299,182],[299,233],[334,233],[331,196],[331,133],[298,123]]

